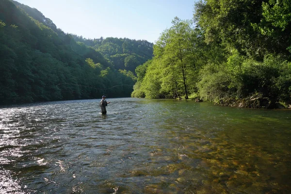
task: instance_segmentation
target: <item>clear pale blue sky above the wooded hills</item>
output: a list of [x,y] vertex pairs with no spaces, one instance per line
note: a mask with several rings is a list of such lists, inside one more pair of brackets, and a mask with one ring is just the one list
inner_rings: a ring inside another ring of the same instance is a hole
[[16,0],[57,28],[84,38],[117,37],[155,43],[175,16],[192,19],[196,0]]

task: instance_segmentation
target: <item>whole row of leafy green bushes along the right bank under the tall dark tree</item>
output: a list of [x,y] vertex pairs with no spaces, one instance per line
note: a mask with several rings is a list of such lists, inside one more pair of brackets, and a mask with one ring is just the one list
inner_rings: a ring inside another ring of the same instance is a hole
[[199,95],[217,104],[236,103],[254,94],[270,101],[262,107],[291,104],[291,63],[281,56],[266,55],[258,62],[234,52],[226,63],[206,65],[199,75]]

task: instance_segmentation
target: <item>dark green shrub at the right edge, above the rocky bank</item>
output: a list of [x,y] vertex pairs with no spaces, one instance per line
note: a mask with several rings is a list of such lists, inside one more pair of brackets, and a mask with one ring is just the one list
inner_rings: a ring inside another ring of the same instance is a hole
[[279,101],[290,103],[291,66],[280,56],[267,55],[263,62],[247,60],[242,65],[243,96],[261,93],[270,107]]

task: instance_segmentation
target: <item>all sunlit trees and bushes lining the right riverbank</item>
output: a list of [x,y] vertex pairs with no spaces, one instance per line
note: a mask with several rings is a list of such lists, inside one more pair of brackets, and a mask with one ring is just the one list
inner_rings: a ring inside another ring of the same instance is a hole
[[200,0],[135,72],[132,97],[290,108],[291,0]]

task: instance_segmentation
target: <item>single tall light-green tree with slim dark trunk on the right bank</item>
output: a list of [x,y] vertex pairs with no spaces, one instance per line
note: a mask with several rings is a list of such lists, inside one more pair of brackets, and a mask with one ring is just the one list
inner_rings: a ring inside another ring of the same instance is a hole
[[[158,50],[162,51],[164,65],[168,67],[165,73],[168,73],[168,76],[172,78],[172,83],[168,84],[175,86],[174,96],[177,97],[178,82],[182,81],[185,98],[188,99],[187,73],[194,64],[194,45],[191,39],[192,22],[190,20],[182,21],[175,17],[172,24],[170,29],[163,32],[157,47],[160,47]],[[165,83],[165,85],[168,84]]]

